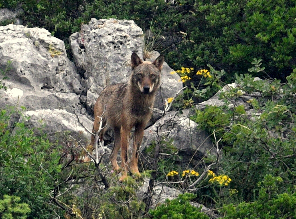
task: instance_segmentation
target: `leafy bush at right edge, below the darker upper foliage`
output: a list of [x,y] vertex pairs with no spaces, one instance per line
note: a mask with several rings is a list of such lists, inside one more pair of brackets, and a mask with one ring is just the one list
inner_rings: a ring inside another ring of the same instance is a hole
[[[285,189],[293,188],[296,177],[295,73],[287,77],[287,81],[281,84],[279,80],[254,80],[249,74],[237,76],[238,87],[220,92],[225,106],[207,106],[192,117],[202,129],[211,135],[215,132],[222,140],[220,146],[225,154],[220,168],[231,175],[232,188],[239,191],[243,200],[257,199],[257,184],[266,174],[280,176]],[[247,100],[250,109],[246,113],[246,107],[239,101],[244,94],[252,93],[255,95]]]

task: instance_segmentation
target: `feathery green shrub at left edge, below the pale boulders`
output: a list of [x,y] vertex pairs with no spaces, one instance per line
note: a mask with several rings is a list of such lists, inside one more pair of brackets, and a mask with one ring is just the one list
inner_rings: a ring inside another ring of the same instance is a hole
[[[20,114],[15,107],[0,110],[0,199],[18,196],[30,207],[28,218],[51,218],[50,194],[55,196],[58,189],[67,188],[66,179],[71,176],[70,168],[62,171],[61,155],[66,150],[49,143],[45,136],[35,136],[23,123],[13,124],[12,115]],[[67,194],[64,196],[60,198],[66,201]]]

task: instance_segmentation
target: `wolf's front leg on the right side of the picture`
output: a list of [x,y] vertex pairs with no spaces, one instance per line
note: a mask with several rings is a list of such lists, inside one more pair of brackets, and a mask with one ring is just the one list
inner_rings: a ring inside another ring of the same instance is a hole
[[144,135],[144,127],[137,125],[135,127],[135,136],[133,140],[133,154],[131,157],[131,172],[135,176],[140,176],[140,172],[138,169],[138,159],[139,159],[139,152],[138,148],[141,146],[141,142]]

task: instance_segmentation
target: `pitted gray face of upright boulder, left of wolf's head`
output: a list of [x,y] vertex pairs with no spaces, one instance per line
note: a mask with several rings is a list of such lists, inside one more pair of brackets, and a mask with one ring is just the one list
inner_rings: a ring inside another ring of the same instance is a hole
[[143,54],[143,31],[133,20],[91,19],[70,36],[75,63],[104,88],[126,82],[132,52]]

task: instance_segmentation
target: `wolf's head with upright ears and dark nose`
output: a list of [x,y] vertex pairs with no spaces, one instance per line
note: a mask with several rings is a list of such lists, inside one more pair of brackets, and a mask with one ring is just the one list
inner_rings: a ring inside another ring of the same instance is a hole
[[158,56],[154,62],[147,62],[133,52],[131,55],[132,84],[139,87],[144,94],[154,93],[160,83],[160,71],[163,68],[164,56]]

